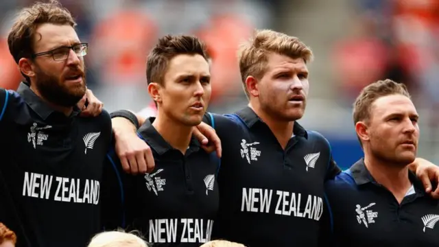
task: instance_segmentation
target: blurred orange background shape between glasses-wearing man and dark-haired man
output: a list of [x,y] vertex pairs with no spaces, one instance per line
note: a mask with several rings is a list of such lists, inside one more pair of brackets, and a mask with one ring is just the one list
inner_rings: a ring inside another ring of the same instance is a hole
[[[146,59],[156,41],[157,27],[147,14],[120,10],[101,21],[93,34],[93,59],[102,65],[104,81],[125,84],[123,78],[145,79]],[[120,78],[121,80],[117,80]]]

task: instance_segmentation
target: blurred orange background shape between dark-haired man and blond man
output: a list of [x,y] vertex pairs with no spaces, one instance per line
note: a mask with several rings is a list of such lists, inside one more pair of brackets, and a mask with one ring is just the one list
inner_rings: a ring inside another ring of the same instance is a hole
[[214,16],[197,32],[212,58],[212,100],[241,88],[237,49],[250,38],[253,27],[234,14]]

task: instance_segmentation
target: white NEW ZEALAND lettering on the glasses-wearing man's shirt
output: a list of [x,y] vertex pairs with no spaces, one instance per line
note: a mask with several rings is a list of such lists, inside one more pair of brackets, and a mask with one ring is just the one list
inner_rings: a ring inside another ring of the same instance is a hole
[[[82,185],[82,187],[81,187]],[[56,191],[51,195],[54,186]],[[83,188],[83,190],[81,189]],[[53,175],[25,172],[23,180],[23,196],[55,200],[58,202],[99,203],[99,181],[81,180],[79,178],[63,178]]]

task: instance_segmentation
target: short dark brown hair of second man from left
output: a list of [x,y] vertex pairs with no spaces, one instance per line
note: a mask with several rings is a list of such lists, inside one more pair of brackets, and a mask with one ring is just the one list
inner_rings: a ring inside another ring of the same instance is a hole
[[195,36],[167,35],[158,39],[157,45],[152,48],[147,58],[146,80],[147,83],[157,82],[163,84],[169,60],[180,54],[201,55],[208,61],[206,45]]

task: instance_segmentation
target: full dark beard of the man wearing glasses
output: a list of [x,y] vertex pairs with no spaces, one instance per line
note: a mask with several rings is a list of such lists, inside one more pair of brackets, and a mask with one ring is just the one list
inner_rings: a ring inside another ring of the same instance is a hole
[[75,106],[86,93],[85,73],[82,69],[77,70],[81,72],[83,83],[69,88],[62,79],[49,75],[38,67],[35,87],[41,97],[51,104],[63,107]]

